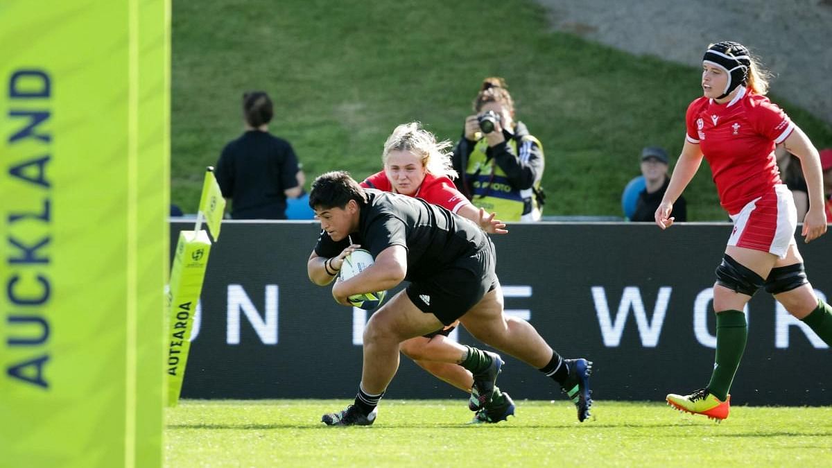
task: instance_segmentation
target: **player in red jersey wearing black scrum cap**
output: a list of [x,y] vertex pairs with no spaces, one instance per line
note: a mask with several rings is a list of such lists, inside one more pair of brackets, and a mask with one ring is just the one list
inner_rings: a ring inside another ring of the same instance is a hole
[[[729,390],[748,337],[743,309],[761,287],[832,346],[832,306],[815,295],[806,279],[795,242],[795,202],[780,181],[774,150],[784,143],[786,151],[800,158],[809,190],[809,211],[801,229],[806,242],[826,232],[820,156],[800,127],[765,97],[768,76],[738,42],[707,48],[702,57],[703,96],[687,108],[685,144],[656,209],[656,224],[671,227],[673,204],[704,157],[721,205],[734,222],[716,267],[716,362],[711,381],[690,395],[667,396],[668,404],[680,411],[716,420],[728,417]],[[691,369],[696,369],[693,363]]]

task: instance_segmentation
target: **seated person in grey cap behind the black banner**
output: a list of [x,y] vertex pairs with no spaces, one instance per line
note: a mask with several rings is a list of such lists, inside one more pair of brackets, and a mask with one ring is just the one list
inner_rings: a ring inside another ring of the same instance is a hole
[[[636,211],[633,212],[632,222],[654,222],[656,208],[665,196],[667,184],[671,178],[667,176],[667,152],[661,147],[646,147],[641,150],[641,175],[644,177],[645,187],[638,194]],[[685,197],[676,199],[673,204],[673,217],[677,222],[687,221],[687,203]]]

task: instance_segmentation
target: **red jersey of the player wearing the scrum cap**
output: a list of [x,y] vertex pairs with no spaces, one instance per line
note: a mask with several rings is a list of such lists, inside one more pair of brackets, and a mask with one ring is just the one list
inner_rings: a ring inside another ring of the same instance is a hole
[[700,97],[687,107],[685,119],[687,141],[698,143],[711,165],[726,212],[739,212],[780,183],[775,143],[789,137],[795,125],[768,97],[745,87],[725,104]]

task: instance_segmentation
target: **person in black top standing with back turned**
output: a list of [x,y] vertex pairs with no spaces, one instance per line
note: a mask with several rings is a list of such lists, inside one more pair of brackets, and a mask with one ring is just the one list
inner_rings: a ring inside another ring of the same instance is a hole
[[300,165],[289,142],[269,133],[271,99],[261,91],[243,95],[245,133],[225,145],[216,163],[222,196],[234,219],[286,219],[286,198],[300,197]]

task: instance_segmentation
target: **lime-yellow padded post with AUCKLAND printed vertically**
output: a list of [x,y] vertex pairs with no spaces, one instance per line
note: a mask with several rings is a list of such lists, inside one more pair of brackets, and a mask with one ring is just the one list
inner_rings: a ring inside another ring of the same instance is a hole
[[170,0],[0,9],[0,465],[161,466]]

